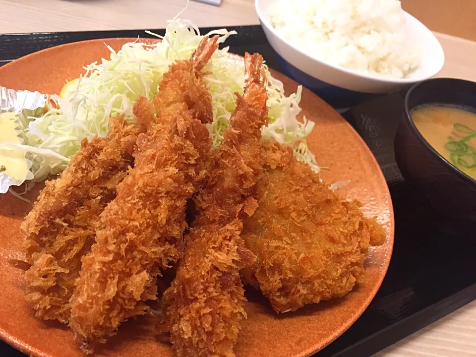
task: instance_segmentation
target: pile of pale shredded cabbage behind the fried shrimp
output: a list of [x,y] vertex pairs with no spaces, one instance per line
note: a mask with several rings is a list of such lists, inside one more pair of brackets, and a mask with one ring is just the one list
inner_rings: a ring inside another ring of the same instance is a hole
[[[207,35],[214,34],[220,35],[219,43],[223,43],[236,32],[221,29]],[[168,22],[162,42],[145,44],[137,40],[123,45],[117,53],[106,45],[111,51],[109,60],[86,66],[86,73],[79,78],[76,90],[69,98],[56,97],[57,103],[50,103],[46,114],[30,118],[33,120],[29,122],[25,144],[34,146],[31,152],[37,157],[42,156],[38,149],[58,154],[57,157],[45,156],[43,161],[36,162],[35,178],[63,170],[68,164],[67,159],[81,148],[82,139],[105,136],[110,115],[123,114],[127,120],[134,121],[132,107],[138,96],[151,100],[169,65],[190,58],[202,38],[192,22],[175,18]],[[207,73],[205,81],[213,105],[213,122],[208,124],[208,129],[216,147],[223,140],[223,133],[235,110],[235,93],[243,92],[244,64],[231,59],[228,47],[225,47],[215,52],[203,71]],[[305,118],[302,122],[297,120],[301,111],[301,87],[297,93],[286,97],[283,84],[271,76],[267,67],[266,78],[270,123],[262,128],[262,138],[293,146],[297,159],[319,172],[305,141],[314,123]]]

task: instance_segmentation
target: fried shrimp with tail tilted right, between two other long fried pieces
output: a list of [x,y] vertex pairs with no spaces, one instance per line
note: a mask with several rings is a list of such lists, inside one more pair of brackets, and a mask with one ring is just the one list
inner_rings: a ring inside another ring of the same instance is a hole
[[204,38],[190,60],[170,66],[154,106],[145,99],[134,106],[146,132],[137,139],[134,168],[101,215],[104,227],[83,258],[70,300],[70,327],[87,353],[92,343],[114,335],[122,321],[148,310],[145,302],[156,299],[161,269],[179,258],[187,199],[211,164],[205,126],[213,119],[211,95],[200,69],[218,48],[217,40]]

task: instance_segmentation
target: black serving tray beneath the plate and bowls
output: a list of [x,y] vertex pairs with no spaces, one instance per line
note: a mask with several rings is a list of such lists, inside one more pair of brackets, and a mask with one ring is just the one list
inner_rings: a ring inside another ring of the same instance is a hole
[[[238,36],[227,40],[231,52],[260,52],[270,67],[281,70],[259,26],[233,29]],[[163,34],[164,30],[153,32]],[[64,43],[137,36],[149,37],[144,30],[0,35],[0,65]],[[425,197],[402,178],[395,163],[393,138],[403,94],[380,97],[344,115],[372,150],[387,179],[395,210],[395,246],[387,276],[370,306],[315,357],[371,356],[476,298],[476,244],[465,239],[471,238],[469,233],[451,229],[438,217]],[[25,355],[0,341],[0,356]]]

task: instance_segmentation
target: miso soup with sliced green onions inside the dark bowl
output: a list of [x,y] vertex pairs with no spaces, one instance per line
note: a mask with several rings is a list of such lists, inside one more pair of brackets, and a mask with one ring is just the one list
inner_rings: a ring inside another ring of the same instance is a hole
[[425,140],[448,162],[476,179],[476,114],[443,106],[410,113]]

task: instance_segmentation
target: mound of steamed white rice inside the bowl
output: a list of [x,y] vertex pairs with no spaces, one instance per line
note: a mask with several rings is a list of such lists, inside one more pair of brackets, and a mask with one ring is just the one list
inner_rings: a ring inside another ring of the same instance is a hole
[[302,52],[336,66],[404,78],[419,65],[398,0],[277,0],[270,19]]

